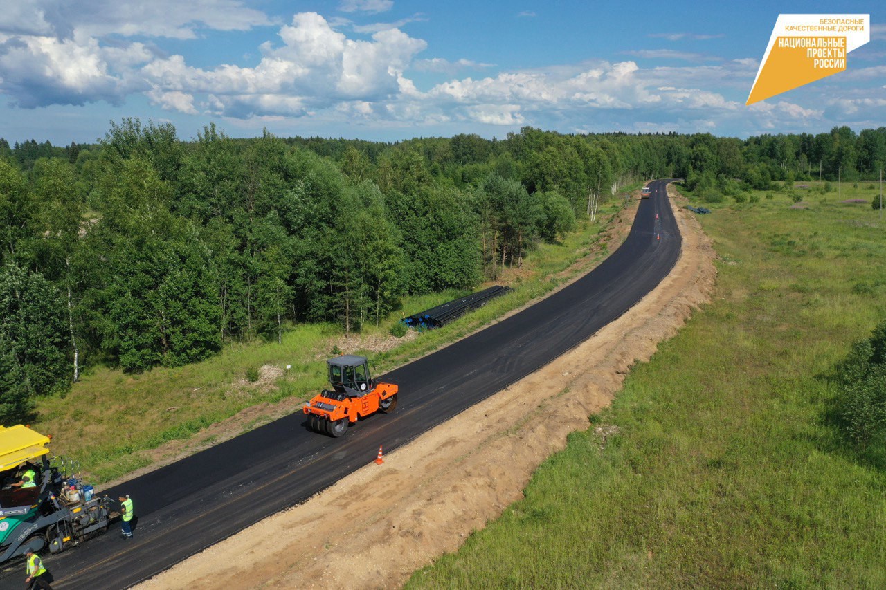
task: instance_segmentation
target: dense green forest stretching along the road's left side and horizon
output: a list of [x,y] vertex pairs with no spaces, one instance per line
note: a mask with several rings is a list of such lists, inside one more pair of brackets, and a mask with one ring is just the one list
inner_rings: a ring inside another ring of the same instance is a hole
[[350,333],[406,294],[494,281],[630,182],[681,177],[741,200],[873,181],[884,163],[886,128],[373,143],[209,125],[182,141],[124,119],[96,144],[0,138],[0,421],[26,419],[84,365],[182,365],[293,322]]

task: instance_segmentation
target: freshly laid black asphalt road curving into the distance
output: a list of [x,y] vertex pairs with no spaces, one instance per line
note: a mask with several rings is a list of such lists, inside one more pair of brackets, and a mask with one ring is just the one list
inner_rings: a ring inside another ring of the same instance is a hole
[[[667,276],[680,234],[666,193],[651,183],[624,245],[594,271],[519,314],[382,376],[399,406],[352,426],[341,439],[307,431],[288,415],[123,485],[137,519],[132,540],[116,526],[59,555],[45,555],[54,587],[125,588],[166,570],[260,519],[307,500],[521,377],[624,314]],[[24,563],[0,578],[20,588]],[[19,571],[21,570],[21,571]]]

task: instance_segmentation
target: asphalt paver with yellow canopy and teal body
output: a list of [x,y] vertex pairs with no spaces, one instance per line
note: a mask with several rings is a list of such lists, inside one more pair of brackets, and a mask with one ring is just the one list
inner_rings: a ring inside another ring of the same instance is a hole
[[74,477],[74,462],[50,458],[49,442],[27,426],[0,426],[0,563],[28,548],[59,553],[105,532],[119,516],[110,499]]

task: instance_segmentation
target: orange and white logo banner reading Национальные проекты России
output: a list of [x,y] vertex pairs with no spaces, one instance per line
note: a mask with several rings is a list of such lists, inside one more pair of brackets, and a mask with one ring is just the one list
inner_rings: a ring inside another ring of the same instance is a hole
[[870,14],[780,14],[745,104],[843,72],[870,40]]

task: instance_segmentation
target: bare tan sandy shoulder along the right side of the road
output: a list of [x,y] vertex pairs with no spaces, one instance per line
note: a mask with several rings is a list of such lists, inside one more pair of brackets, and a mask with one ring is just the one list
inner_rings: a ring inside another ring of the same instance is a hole
[[[501,515],[540,462],[587,429],[637,361],[709,300],[711,243],[669,187],[683,237],[670,276],[628,313],[519,383],[311,500],[148,580],[144,588],[388,588]],[[631,220],[622,223],[624,235]],[[619,236],[613,236],[618,241]]]

